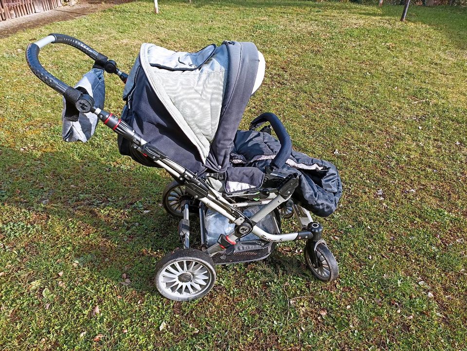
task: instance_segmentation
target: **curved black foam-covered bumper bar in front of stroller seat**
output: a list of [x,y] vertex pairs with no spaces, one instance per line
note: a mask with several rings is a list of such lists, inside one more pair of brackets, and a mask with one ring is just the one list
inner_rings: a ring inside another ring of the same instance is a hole
[[290,157],[290,154],[292,153],[292,140],[290,139],[290,135],[288,135],[287,129],[284,127],[280,119],[271,112],[263,113],[252,120],[250,124],[250,130],[254,130],[259,125],[266,122],[269,122],[272,129],[274,129],[277,137],[279,138],[279,142],[281,143],[281,149],[271,162],[271,166],[277,169],[284,166]]

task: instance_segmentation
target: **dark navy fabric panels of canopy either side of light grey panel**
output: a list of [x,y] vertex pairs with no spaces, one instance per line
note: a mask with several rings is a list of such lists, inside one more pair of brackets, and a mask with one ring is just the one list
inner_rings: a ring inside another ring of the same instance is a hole
[[[166,109],[161,101],[162,97],[154,91],[151,77],[142,67],[144,58],[141,54],[125,87],[126,106],[122,112],[122,120],[143,135],[144,140],[193,172],[201,173],[206,169],[216,172],[227,170],[235,133],[250,100],[258,69],[258,50],[253,43],[226,41],[221,46],[223,45],[228,53],[228,69],[225,73],[218,125],[206,158],[203,158],[199,147],[186,135],[187,131],[180,128],[180,124]],[[210,59],[205,60],[198,69],[203,64],[209,64]],[[151,65],[154,66],[153,63]],[[177,70],[180,71],[179,68]],[[170,70],[166,73],[170,74]],[[118,143],[121,154],[130,156],[145,166],[155,166],[152,161],[131,148],[128,141],[119,137]]]

